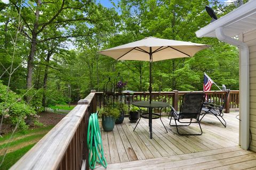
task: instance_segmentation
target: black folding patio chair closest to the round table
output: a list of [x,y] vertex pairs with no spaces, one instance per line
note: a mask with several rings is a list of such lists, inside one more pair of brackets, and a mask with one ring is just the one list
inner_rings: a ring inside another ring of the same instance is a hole
[[[176,126],[177,132],[180,135],[201,135],[203,134],[200,122],[199,122],[199,116],[201,113],[201,109],[204,104],[204,99],[205,99],[205,94],[203,93],[198,93],[198,94],[185,94],[182,100],[182,105],[180,108],[180,112],[175,111],[173,107],[171,107],[171,112],[169,116],[171,116],[170,120],[170,125],[172,121],[172,117],[174,118],[175,125],[171,126]],[[190,121],[186,121],[186,120]],[[196,120],[195,122],[192,122],[192,120]],[[186,123],[186,125],[178,125],[177,121],[180,123]],[[189,123],[189,124],[187,124]],[[189,126],[191,123],[198,123],[199,128],[201,130],[201,133],[195,133],[195,134],[181,134],[179,133],[178,126]]]

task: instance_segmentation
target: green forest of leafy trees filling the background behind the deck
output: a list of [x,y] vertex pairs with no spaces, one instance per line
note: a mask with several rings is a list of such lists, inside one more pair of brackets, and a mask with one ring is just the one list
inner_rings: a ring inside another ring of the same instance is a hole
[[115,61],[98,51],[150,36],[211,45],[191,58],[154,62],[153,91],[203,90],[204,72],[219,86],[239,89],[238,49],[195,35],[211,21],[206,5],[220,17],[237,8],[236,1],[110,3],[111,7],[89,0],[0,2],[2,121],[14,112],[26,119],[49,105],[77,103],[92,89],[103,91],[103,84],[118,72],[127,82],[125,89],[148,91],[148,62]]

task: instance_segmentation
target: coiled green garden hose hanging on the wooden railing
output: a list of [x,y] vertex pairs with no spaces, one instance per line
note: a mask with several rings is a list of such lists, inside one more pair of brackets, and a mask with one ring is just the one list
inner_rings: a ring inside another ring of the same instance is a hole
[[89,118],[87,146],[89,149],[89,167],[94,169],[97,162],[106,168],[107,161],[104,157],[97,113],[91,114]]

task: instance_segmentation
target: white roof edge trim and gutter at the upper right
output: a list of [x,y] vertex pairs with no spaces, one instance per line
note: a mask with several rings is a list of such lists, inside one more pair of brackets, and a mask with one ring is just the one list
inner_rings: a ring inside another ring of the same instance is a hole
[[[215,29],[219,27],[222,27],[224,29],[227,27],[228,29],[228,26],[232,28],[231,24],[241,21],[253,14],[256,14],[256,0],[251,0],[250,2],[247,2],[246,4],[236,8],[234,11],[222,16],[220,19],[210,23],[209,25],[206,25],[204,28],[201,28],[200,30],[196,31],[196,36],[215,37]],[[235,28],[233,35],[232,33],[230,33],[229,36],[232,37],[238,35],[237,32],[243,33],[246,31],[249,30],[241,30],[241,28]]]

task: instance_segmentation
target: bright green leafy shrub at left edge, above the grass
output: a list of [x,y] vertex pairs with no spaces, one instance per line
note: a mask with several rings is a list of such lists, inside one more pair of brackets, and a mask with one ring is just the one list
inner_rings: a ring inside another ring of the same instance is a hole
[[0,81],[0,111],[4,122],[11,125],[19,123],[20,130],[28,129],[28,125],[33,124],[38,117],[35,110],[11,90],[6,100],[6,92],[7,86]]

